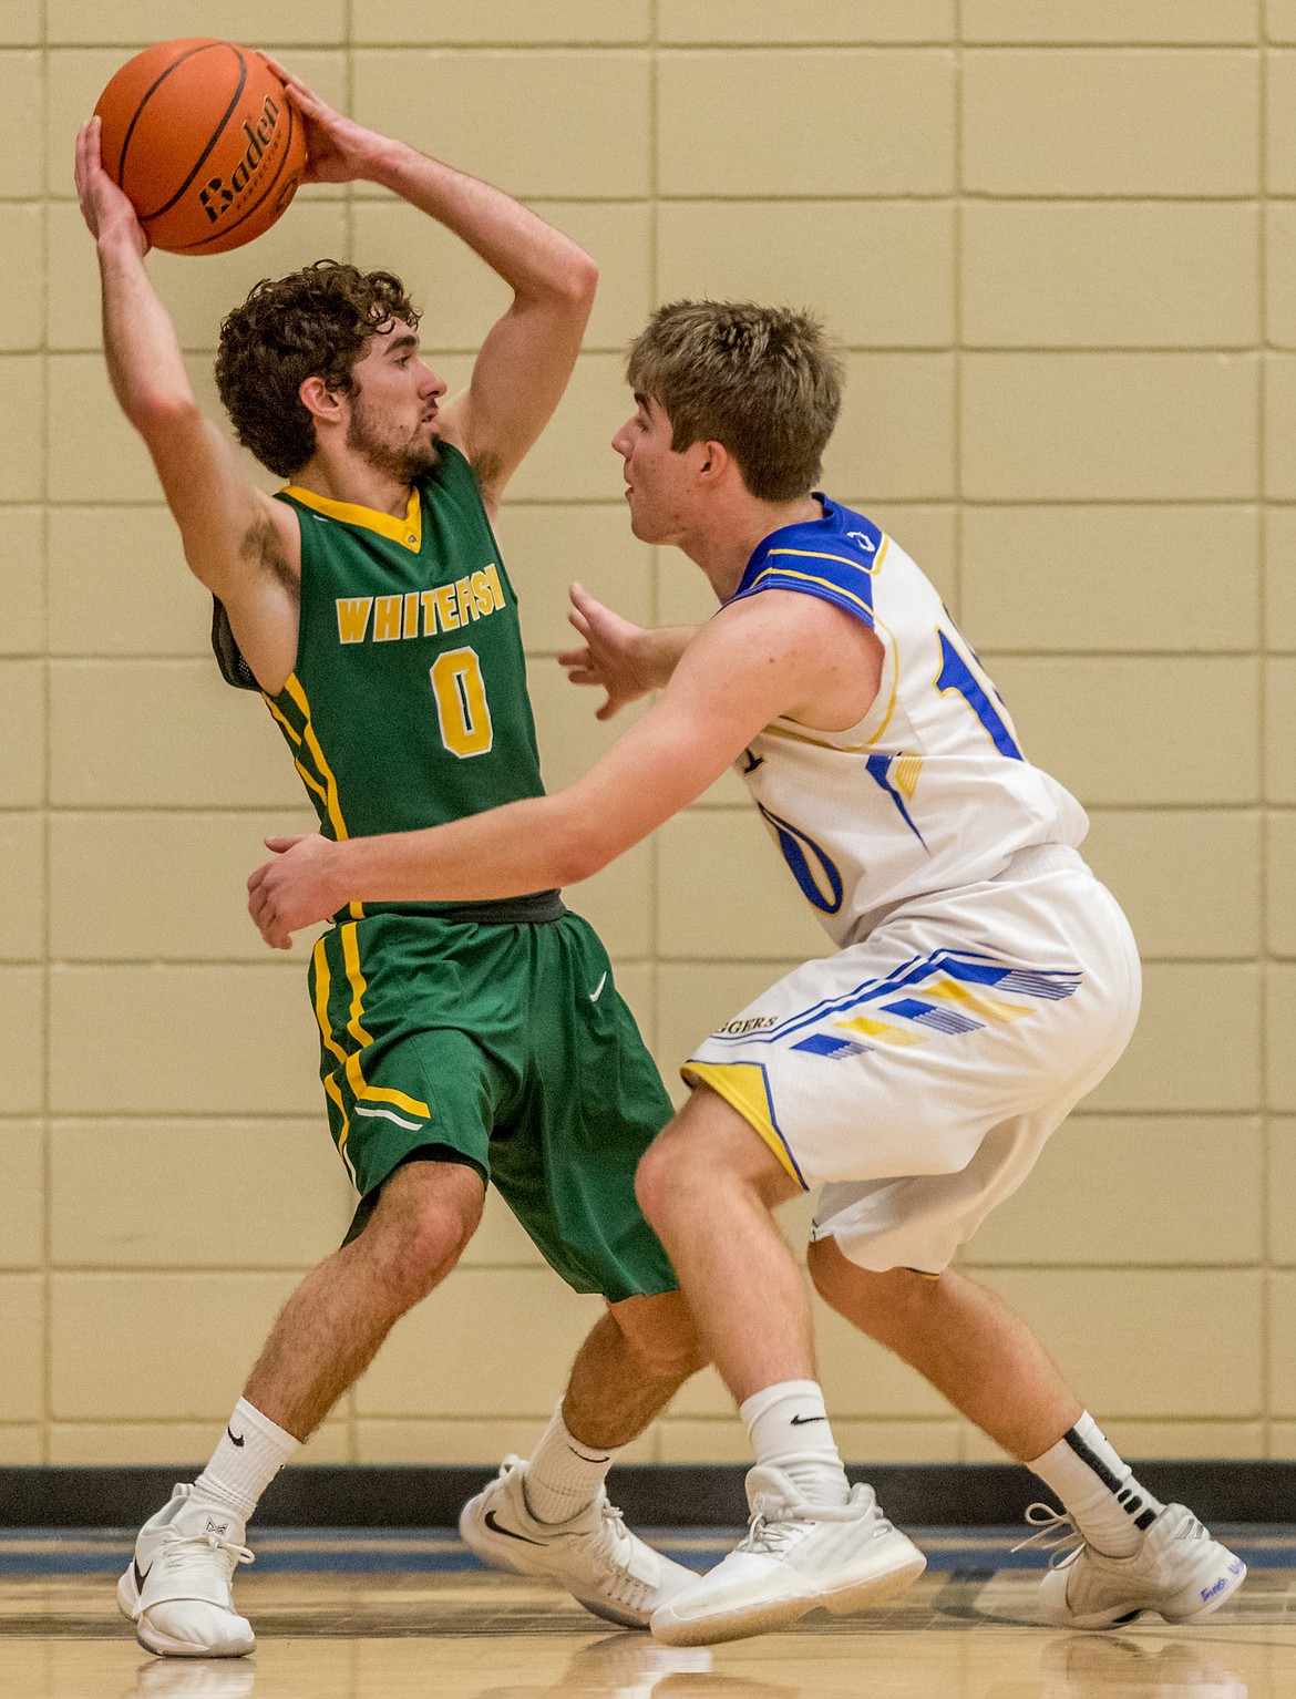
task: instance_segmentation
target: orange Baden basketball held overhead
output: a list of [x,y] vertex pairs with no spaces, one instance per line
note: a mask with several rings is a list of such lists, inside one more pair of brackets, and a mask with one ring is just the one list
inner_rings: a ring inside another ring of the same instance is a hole
[[99,97],[104,170],[155,248],[224,253],[268,229],[301,183],[301,114],[260,53],[160,41]]

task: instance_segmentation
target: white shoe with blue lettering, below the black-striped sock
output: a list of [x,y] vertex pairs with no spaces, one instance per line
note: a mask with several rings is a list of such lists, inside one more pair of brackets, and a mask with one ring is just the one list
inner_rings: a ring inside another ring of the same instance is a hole
[[[1143,1611],[1167,1623],[1199,1623],[1230,1599],[1247,1565],[1182,1504],[1167,1504],[1128,1558],[1107,1558],[1085,1544],[1075,1524],[1046,1504],[1026,1512],[1040,1534],[1057,1534],[1055,1556],[1040,1585],[1040,1609],[1060,1628],[1114,1628]],[[1029,1544],[1029,1541],[1023,1541]]]

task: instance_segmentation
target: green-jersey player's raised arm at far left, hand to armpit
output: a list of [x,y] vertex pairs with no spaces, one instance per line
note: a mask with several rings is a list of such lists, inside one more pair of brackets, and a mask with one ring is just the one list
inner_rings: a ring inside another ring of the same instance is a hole
[[229,610],[258,680],[279,688],[296,649],[296,518],[248,483],[199,411],[175,326],[144,267],[148,238],[104,170],[97,117],[76,136],[76,195],[99,251],[112,391],[153,457],[194,574]]

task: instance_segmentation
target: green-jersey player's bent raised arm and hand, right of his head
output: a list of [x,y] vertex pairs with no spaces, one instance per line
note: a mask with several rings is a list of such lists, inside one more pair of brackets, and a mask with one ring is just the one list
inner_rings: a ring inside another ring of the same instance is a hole
[[594,302],[598,267],[574,241],[489,183],[379,136],[270,61],[306,122],[307,180],[365,178],[435,217],[513,291],[469,387],[442,406],[440,435],[472,462],[489,508],[567,387]]

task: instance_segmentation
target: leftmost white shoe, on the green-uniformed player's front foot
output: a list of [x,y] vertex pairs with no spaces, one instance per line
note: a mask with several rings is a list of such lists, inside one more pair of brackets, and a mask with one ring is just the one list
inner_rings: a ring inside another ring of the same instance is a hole
[[256,1648],[231,1585],[238,1565],[253,1561],[245,1524],[192,1495],[189,1483],[178,1485],[139,1529],[117,1604],[139,1645],[160,1658],[241,1658]]

